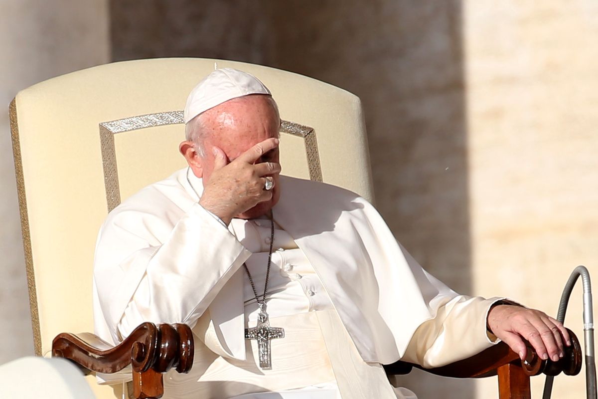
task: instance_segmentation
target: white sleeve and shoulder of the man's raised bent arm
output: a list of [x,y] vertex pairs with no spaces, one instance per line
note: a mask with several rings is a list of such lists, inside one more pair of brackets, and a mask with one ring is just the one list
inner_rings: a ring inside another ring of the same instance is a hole
[[96,312],[102,313],[114,342],[144,321],[193,326],[251,255],[198,203],[161,243],[147,225],[164,222],[138,213],[125,211],[109,219],[96,245],[94,284],[101,307]]

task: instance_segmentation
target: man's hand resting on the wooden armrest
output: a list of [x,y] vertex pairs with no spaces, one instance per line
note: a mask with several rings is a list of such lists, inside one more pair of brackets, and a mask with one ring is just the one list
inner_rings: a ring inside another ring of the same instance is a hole
[[[526,358],[527,340],[541,359],[558,361],[565,355],[563,342],[571,345],[569,333],[563,324],[540,310],[500,304],[488,313],[488,327],[503,340],[521,360]],[[523,338],[523,339],[522,339]]]

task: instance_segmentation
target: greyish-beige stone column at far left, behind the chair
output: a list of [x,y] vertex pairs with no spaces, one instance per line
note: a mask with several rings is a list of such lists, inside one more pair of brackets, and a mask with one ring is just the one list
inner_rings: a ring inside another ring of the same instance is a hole
[[34,83],[109,62],[108,2],[0,0],[0,53],[2,364],[33,355],[8,103]]

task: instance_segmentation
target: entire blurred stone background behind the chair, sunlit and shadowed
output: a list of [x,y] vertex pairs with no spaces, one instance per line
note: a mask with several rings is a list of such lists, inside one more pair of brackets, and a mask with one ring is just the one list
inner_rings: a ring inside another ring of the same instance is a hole
[[[576,264],[596,280],[594,0],[109,6],[0,1],[4,102],[20,87],[109,59],[218,57],[310,75],[361,97],[380,212],[451,287],[555,313]],[[0,282],[0,315],[22,339],[0,363],[31,351],[3,112],[0,264],[10,277]],[[581,336],[578,291],[568,325]],[[542,383],[533,380],[536,397]],[[404,384],[420,398],[497,397],[494,379],[415,373]],[[553,397],[583,395],[583,376],[557,377]]]

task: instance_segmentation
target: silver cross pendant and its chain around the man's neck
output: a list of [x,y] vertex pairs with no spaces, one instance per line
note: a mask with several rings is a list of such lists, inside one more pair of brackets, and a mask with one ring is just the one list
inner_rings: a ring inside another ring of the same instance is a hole
[[[199,197],[197,190],[191,184],[191,179],[189,178],[189,171],[191,168],[187,168],[187,181],[191,186],[191,190]],[[263,370],[270,370],[272,368],[271,362],[271,354],[270,354],[270,341],[276,338],[283,338],[285,336],[285,330],[279,327],[270,327],[270,321],[268,318],[268,313],[266,312],[266,295],[268,294],[268,282],[270,280],[270,265],[272,263],[272,248],[274,246],[274,215],[272,209],[270,209],[270,250],[268,252],[268,266],[266,269],[266,282],[264,282],[264,294],[262,299],[258,296],[258,291],[255,289],[254,279],[251,277],[251,273],[249,273],[249,269],[247,265],[243,263],[243,267],[245,268],[245,272],[249,278],[249,282],[251,283],[251,288],[254,290],[255,300],[258,303],[258,307],[260,309],[260,313],[258,313],[258,321],[255,327],[245,328],[245,338],[246,339],[255,339],[258,343],[258,357],[260,360],[260,367]]]

